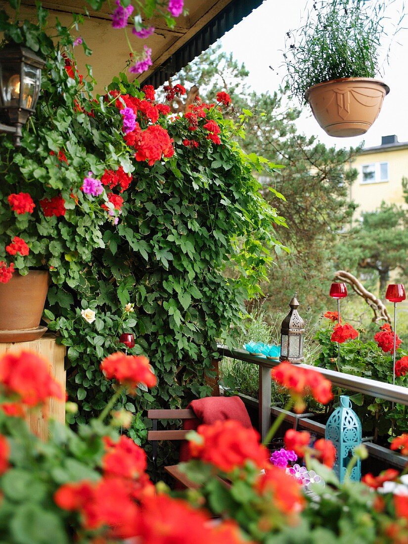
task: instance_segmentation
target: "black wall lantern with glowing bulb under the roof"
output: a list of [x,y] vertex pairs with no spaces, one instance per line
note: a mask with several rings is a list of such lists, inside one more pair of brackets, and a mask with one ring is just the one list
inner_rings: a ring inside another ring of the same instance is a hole
[[27,47],[10,44],[0,50],[0,132],[14,134],[16,147],[22,125],[34,113],[44,66],[45,61]]

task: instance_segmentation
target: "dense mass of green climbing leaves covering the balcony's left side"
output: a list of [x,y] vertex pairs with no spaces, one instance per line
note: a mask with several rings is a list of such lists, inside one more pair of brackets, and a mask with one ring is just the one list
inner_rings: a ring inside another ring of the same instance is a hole
[[[4,15],[0,21],[6,34],[15,33]],[[57,30],[60,46],[72,57],[69,32]],[[21,32],[27,42],[27,32]],[[208,394],[205,378],[218,356],[217,339],[228,343],[230,327],[242,323],[245,300],[260,292],[258,283],[267,277],[275,250],[283,248],[274,228],[285,226],[285,219],[264,200],[254,177],[263,169],[274,174],[277,166],[245,154],[233,139],[243,135],[242,125],[224,119],[217,106],[203,122],[218,123],[220,145],[207,139],[202,122],[194,132],[199,147],[186,147],[183,140],[191,138],[187,119],[160,115],[159,123],[174,139],[174,156],[152,166],[138,162],[123,140],[122,118],[111,97],[113,91],[144,94],[121,73],[109,95],[94,99],[91,68],[81,83],[75,69],[67,74],[60,47],[54,49],[39,27],[30,32],[47,69],[21,149],[16,152],[10,137],[0,137],[6,181],[0,194],[0,259],[10,237],[24,233],[30,255],[17,257],[16,269],[22,274],[33,266],[51,269],[48,318],[69,348],[67,388],[79,403],[77,422],[106,403],[110,384],[99,364],[118,349],[117,332],[123,331],[134,333],[132,353],[147,355],[158,375],[158,386],[141,395],[135,410],[185,406]],[[140,122],[145,129],[146,122]],[[58,160],[58,151],[64,151],[67,164]],[[100,177],[119,166],[133,180],[122,194],[116,226],[81,186],[88,171]],[[45,218],[36,206],[33,214],[18,217],[7,203],[14,191],[30,193],[35,202],[60,192],[66,214]],[[117,331],[128,302],[135,312]],[[97,319],[85,326],[78,312],[88,306]],[[127,407],[133,402],[122,400]],[[137,419],[135,426],[140,437],[143,421]]]

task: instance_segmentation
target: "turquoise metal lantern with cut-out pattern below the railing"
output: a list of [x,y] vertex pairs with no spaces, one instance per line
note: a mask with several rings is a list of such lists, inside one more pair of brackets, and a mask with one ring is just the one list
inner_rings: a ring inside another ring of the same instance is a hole
[[[347,395],[341,395],[339,407],[329,417],[325,438],[330,440],[336,448],[336,462],[333,470],[343,482],[347,465],[353,457],[353,450],[361,444],[361,422],[351,409],[351,400]],[[358,459],[351,471],[350,480],[360,481],[360,479],[361,460]]]

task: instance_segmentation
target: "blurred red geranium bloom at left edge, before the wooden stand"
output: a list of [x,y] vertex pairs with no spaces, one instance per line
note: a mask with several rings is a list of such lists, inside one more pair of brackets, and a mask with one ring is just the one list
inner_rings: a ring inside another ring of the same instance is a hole
[[8,395],[18,395],[28,406],[44,403],[49,397],[64,400],[61,385],[50,374],[48,362],[29,351],[0,357],[0,383]]

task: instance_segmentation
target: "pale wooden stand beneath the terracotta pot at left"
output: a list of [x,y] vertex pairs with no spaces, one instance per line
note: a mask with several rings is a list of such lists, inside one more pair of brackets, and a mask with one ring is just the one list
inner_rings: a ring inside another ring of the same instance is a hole
[[[36,355],[45,358],[50,363],[53,378],[57,380],[65,391],[66,372],[64,370],[64,357],[66,348],[57,344],[55,336],[45,335],[32,342],[0,343],[0,356],[6,353],[20,353],[20,351],[32,351]],[[48,401],[48,417],[65,424],[65,399],[63,401],[51,398]],[[48,438],[48,425],[46,413],[43,410],[32,410],[27,417],[29,429],[41,440]]]

